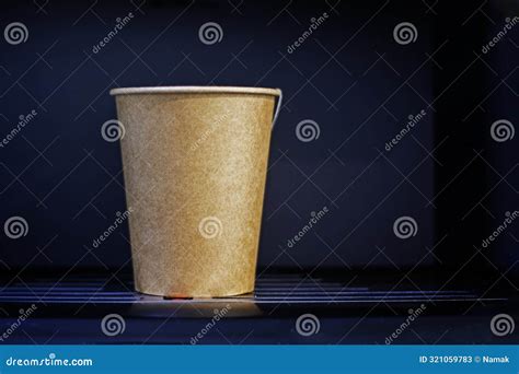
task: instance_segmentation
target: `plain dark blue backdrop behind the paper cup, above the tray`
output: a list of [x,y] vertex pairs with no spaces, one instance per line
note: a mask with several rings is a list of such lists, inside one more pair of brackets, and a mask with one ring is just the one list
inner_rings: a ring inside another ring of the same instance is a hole
[[[447,1],[2,2],[2,30],[23,22],[30,35],[16,46],[0,40],[0,136],[21,114],[38,115],[0,149],[0,222],[21,215],[30,226],[16,241],[0,235],[0,266],[128,267],[126,229],[92,248],[126,209],[119,145],[101,137],[103,122],[116,116],[108,90],[216,84],[284,90],[262,268],[470,262],[470,269],[515,271],[517,224],[484,255],[474,248],[506,211],[518,209],[517,137],[498,143],[489,135],[496,119],[519,124],[517,30],[481,52],[505,17],[518,14],[517,3],[497,3],[477,10]],[[116,17],[130,11],[132,21],[93,54]],[[323,12],[325,23],[287,54]],[[221,43],[200,43],[206,22],[221,25]],[[416,43],[395,43],[401,22],[416,26]],[[422,109],[425,119],[384,151]],[[319,139],[298,140],[303,119],[319,124]],[[330,213],[316,229],[287,248],[324,206]],[[418,223],[406,241],[393,233],[402,215]]]

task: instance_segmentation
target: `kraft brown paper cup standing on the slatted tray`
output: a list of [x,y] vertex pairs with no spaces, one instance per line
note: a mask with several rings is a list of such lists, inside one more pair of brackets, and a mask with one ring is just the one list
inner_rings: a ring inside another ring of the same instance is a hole
[[111,94],[123,127],[136,290],[171,297],[252,292],[281,92],[176,86]]

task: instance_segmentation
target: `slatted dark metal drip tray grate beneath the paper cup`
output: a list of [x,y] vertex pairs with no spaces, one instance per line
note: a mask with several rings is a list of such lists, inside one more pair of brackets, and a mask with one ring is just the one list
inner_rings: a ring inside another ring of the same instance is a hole
[[[367,282],[365,282],[367,284]],[[374,284],[374,283],[372,283]],[[132,315],[164,315],[171,308],[182,306],[180,316],[205,316],[232,303],[233,314],[258,315],[287,312],[301,307],[337,308],[411,307],[419,303],[449,304],[499,301],[498,297],[480,297],[468,290],[435,290],[410,284],[399,287],[362,285],[362,282],[327,278],[308,278],[297,274],[268,274],[256,281],[254,294],[221,299],[164,299],[132,291],[129,277],[70,277],[56,282],[39,278],[32,281],[14,281],[3,285],[0,292],[2,308],[23,307],[27,304],[45,305],[44,311],[73,315],[122,311]],[[193,313],[195,312],[195,313]]]

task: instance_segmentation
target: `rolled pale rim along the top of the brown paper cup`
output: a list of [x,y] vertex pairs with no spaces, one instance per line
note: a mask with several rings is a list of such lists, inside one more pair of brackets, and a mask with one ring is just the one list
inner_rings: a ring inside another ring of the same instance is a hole
[[240,93],[255,95],[279,96],[281,90],[266,87],[247,86],[226,86],[226,85],[170,85],[170,86],[145,86],[145,87],[117,87],[109,90],[112,96],[131,94],[169,94],[169,93]]

